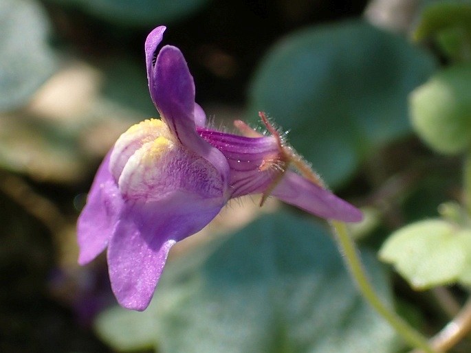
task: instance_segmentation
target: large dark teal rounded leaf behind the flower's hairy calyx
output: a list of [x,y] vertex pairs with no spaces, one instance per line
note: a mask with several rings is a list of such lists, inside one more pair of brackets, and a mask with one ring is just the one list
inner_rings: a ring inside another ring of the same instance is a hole
[[410,132],[407,95],[433,69],[431,56],[363,21],[309,28],[267,54],[249,113],[290,130],[294,148],[337,185],[372,148]]

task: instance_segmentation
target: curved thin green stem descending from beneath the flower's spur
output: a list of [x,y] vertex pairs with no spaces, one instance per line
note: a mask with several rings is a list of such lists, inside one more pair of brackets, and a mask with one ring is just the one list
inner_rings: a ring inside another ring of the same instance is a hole
[[344,261],[355,280],[358,289],[362,293],[364,299],[369,302],[371,306],[380,314],[388,323],[396,330],[404,341],[406,341],[413,348],[419,348],[427,353],[435,353],[436,351],[430,346],[427,339],[417,332],[406,321],[399,317],[395,312],[390,310],[377,296],[373,286],[366,277],[363,269],[362,262],[355,247],[355,242],[350,238],[347,233],[347,226],[339,221],[331,221],[331,227],[336,235],[336,241],[340,251],[344,255]]

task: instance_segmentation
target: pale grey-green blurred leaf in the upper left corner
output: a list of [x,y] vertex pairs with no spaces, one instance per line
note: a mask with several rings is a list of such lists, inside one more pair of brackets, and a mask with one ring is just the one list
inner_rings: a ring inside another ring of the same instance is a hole
[[48,30],[36,1],[0,1],[0,111],[25,104],[55,71]]

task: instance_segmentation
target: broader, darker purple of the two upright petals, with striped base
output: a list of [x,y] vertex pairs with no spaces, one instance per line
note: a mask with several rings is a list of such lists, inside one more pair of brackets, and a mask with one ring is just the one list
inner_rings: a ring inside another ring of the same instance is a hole
[[183,146],[209,161],[228,180],[229,167],[226,159],[196,132],[195,84],[178,48],[166,45],[160,50],[153,80],[155,85],[151,89],[152,98],[173,135]]

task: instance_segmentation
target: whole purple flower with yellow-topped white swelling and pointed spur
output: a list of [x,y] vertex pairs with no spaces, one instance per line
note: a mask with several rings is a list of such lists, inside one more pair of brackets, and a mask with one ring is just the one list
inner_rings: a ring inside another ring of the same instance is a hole
[[267,122],[263,136],[242,122],[245,136],[206,127],[182,53],[166,45],[165,27],[145,44],[151,98],[161,119],[131,126],[98,169],[78,218],[79,262],[107,248],[111,286],[125,308],[144,310],[175,242],[205,227],[230,198],[273,195],[322,218],[358,221],[358,209],[316,178],[287,170],[304,164]]

